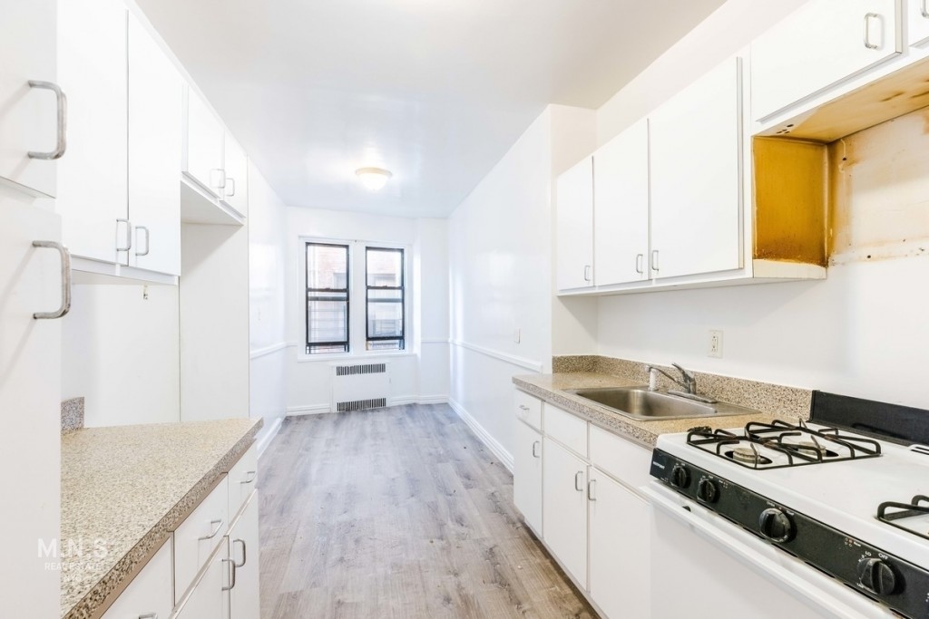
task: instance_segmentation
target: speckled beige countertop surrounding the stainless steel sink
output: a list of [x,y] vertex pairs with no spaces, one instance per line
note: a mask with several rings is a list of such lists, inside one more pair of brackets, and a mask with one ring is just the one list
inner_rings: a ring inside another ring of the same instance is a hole
[[642,384],[641,381],[595,372],[515,376],[513,377],[513,383],[524,392],[531,393],[546,402],[574,413],[582,419],[587,419],[609,432],[620,434],[622,437],[635,441],[640,445],[645,445],[648,448],[655,446],[659,434],[687,432],[688,429],[694,426],[738,428],[749,421],[770,421],[778,418],[777,415],[759,412],[754,415],[733,415],[719,418],[700,417],[697,419],[655,421],[629,419],[612,412],[605,406],[596,405],[586,398],[565,391],[566,389],[583,389],[586,387],[631,387]]

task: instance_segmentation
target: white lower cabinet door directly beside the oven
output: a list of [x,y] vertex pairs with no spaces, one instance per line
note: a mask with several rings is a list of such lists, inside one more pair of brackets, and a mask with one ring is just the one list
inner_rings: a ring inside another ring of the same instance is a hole
[[590,469],[590,594],[608,617],[650,617],[648,502]]

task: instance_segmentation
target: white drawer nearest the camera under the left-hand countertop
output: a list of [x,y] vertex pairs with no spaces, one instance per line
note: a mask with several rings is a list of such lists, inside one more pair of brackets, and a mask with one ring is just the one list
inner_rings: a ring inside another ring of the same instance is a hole
[[138,619],[146,616],[167,619],[174,608],[171,548],[171,540],[168,539],[107,612],[103,613],[103,619]]

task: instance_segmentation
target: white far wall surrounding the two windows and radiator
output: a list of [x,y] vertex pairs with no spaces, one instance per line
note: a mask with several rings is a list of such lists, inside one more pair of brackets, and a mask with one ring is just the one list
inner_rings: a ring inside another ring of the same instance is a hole
[[[391,401],[444,402],[448,396],[448,357],[441,341],[448,339],[447,223],[444,220],[417,220],[404,217],[347,213],[324,209],[287,208],[285,247],[286,324],[287,324],[287,411],[290,414],[319,413],[329,410],[330,372],[333,357],[301,358],[305,342],[304,303],[301,264],[304,259],[301,237],[382,242],[412,249],[410,291],[413,324],[412,346],[401,354],[356,353],[353,359],[387,358],[391,372]],[[446,344],[447,345],[447,344]],[[344,359],[346,357],[340,357]],[[428,368],[425,368],[428,364]]]

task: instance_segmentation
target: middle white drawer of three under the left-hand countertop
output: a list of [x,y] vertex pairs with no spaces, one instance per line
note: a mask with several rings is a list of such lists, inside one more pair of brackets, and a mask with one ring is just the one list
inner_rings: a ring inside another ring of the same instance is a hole
[[175,603],[183,597],[194,576],[225,539],[229,529],[228,480],[228,476],[223,475],[219,485],[175,531]]

